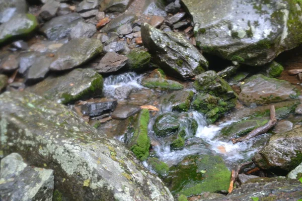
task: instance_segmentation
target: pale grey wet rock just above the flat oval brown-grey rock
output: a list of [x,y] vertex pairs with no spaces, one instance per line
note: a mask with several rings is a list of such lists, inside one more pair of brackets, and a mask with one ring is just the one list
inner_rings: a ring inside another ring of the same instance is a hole
[[91,38],[97,32],[96,26],[85,22],[79,22],[71,31],[69,38]]

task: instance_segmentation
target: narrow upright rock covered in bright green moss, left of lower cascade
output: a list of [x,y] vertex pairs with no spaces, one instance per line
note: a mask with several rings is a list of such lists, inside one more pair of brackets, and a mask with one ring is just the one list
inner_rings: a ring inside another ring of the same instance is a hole
[[150,139],[148,137],[148,123],[149,123],[149,111],[143,109],[140,111],[136,125],[134,127],[134,133],[130,138],[127,146],[135,154],[135,156],[144,161],[149,156]]

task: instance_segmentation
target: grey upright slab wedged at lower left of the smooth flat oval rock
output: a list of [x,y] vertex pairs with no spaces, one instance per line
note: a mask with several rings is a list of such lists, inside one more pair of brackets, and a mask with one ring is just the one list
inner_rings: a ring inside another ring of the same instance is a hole
[[35,61],[28,70],[26,76],[26,82],[37,82],[46,77],[46,74],[49,72],[49,66],[52,63],[53,58],[47,56],[39,56],[35,58]]

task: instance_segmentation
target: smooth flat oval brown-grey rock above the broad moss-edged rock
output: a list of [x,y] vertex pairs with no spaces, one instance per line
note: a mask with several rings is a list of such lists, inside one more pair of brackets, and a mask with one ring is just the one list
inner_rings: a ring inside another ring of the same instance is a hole
[[[70,40],[58,49],[54,61],[50,64],[51,70],[68,70],[84,64],[102,52],[100,40],[76,38]],[[83,54],[85,52],[85,54]]]

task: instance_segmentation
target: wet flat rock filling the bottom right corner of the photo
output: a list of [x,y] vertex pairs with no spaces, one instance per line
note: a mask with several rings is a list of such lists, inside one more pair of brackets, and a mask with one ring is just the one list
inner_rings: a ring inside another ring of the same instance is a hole
[[211,200],[296,200],[301,197],[301,183],[298,180],[286,179],[285,177],[255,178],[235,188],[231,194],[223,198]]

